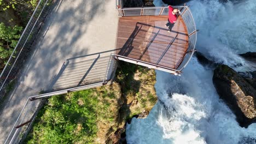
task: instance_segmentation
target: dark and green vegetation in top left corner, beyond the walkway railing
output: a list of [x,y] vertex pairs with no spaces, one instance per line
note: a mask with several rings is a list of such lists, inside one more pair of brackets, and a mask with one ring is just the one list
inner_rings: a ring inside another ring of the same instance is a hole
[[0,71],[4,68],[27,25],[37,0],[0,0]]

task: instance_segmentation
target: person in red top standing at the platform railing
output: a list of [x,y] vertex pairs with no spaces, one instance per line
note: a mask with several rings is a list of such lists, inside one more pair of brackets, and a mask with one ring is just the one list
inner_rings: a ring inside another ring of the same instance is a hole
[[180,13],[179,9],[172,8],[171,5],[168,6],[169,8],[169,17],[168,22],[166,23],[166,27],[168,27],[168,32],[170,33],[172,30],[172,27],[174,26],[174,23],[177,20],[177,15]]

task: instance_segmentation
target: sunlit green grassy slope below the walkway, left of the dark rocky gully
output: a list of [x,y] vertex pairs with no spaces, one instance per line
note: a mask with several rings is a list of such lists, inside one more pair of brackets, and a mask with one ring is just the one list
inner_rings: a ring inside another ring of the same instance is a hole
[[25,143],[95,143],[98,129],[104,129],[97,123],[113,125],[118,112],[117,102],[112,101],[117,101],[119,93],[113,88],[93,88],[49,98]]

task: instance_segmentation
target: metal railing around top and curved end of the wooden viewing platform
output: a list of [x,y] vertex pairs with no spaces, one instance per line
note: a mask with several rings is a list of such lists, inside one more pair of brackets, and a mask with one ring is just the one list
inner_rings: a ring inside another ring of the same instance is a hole
[[[195,21],[191,10],[188,6],[178,6],[173,7],[177,8],[181,11],[179,14],[185,22],[188,31],[188,50],[185,53],[184,57],[181,59],[181,64],[179,64],[178,68],[176,68],[177,74],[181,73],[181,70],[185,68],[190,61],[191,57],[195,51],[196,39],[197,39],[197,32]],[[119,8],[119,16],[146,16],[146,15],[168,15],[168,7],[144,7],[144,8]]]

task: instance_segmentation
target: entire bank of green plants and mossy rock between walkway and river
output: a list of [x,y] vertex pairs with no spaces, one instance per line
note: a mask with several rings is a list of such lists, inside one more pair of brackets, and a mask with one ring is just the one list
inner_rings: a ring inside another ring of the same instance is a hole
[[126,121],[157,101],[154,70],[120,63],[112,85],[49,98],[25,143],[118,143]]

